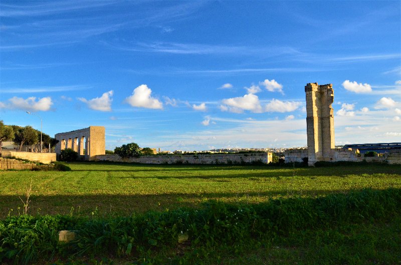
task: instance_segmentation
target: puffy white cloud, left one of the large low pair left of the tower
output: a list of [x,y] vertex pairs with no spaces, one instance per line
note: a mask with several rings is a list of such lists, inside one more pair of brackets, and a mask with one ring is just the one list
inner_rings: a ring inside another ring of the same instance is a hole
[[228,105],[228,107],[221,107],[222,110],[229,110],[236,113],[240,113],[243,110],[262,112],[259,97],[251,93],[244,96],[223,99],[222,103]]

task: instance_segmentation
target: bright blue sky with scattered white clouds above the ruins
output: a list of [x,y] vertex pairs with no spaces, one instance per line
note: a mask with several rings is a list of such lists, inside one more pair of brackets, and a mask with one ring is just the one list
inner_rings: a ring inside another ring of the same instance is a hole
[[0,2],[0,119],[106,148],[306,145],[304,86],[335,142],[401,141],[401,1]]

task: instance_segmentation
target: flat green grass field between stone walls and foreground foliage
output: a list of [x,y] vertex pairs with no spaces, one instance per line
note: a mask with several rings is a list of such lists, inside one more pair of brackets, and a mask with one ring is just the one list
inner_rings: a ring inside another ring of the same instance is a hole
[[129,215],[215,199],[257,203],[324,196],[362,188],[401,188],[400,165],[333,167],[145,165],[76,162],[72,171],[0,171],[0,218],[23,212],[32,179],[30,214]]

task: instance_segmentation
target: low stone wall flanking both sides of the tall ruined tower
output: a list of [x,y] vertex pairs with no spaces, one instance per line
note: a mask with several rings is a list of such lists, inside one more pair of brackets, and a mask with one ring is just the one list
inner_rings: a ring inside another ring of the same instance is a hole
[[[308,157],[308,149],[288,149],[284,152],[285,162],[302,162],[302,158]],[[401,164],[401,149],[392,149],[385,153],[380,153],[374,157],[365,157],[360,154],[358,149],[337,148],[331,149],[330,162],[354,161],[361,162],[386,162],[389,164]]]

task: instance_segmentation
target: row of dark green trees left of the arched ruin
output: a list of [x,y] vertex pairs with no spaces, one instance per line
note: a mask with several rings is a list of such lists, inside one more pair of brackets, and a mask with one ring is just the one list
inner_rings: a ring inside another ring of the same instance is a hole
[[[3,141],[13,141],[18,146],[17,150],[21,151],[24,144],[34,145],[41,142],[41,131],[34,129],[32,126],[25,127],[18,125],[6,125],[0,120],[0,152],[3,148]],[[44,147],[50,149],[58,143],[59,140],[50,137],[49,134],[42,132],[42,143]]]

